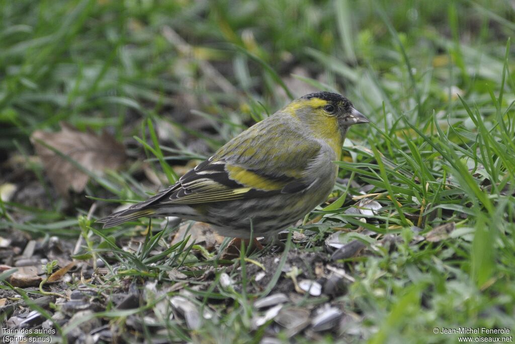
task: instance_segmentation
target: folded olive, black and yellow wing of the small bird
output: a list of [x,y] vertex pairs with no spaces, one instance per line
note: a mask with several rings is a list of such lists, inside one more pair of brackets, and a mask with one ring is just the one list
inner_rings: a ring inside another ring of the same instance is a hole
[[318,156],[320,145],[293,140],[297,133],[288,132],[285,126],[276,129],[278,136],[271,140],[265,140],[259,130],[236,136],[176,184],[135,206],[152,207],[158,201],[159,207],[193,205],[305,190],[312,182],[305,171]]

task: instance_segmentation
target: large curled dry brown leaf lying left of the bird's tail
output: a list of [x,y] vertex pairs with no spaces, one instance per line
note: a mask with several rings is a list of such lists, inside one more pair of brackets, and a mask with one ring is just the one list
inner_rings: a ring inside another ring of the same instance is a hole
[[48,178],[63,196],[67,196],[70,188],[75,192],[84,190],[89,176],[41,142],[57,149],[93,173],[117,169],[126,158],[124,146],[111,134],[82,132],[65,123],[61,123],[61,131],[58,132],[37,130],[32,133],[30,140],[43,162]]

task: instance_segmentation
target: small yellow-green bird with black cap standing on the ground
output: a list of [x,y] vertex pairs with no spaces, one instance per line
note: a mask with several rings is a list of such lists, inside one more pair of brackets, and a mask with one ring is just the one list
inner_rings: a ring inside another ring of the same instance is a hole
[[229,237],[269,236],[293,225],[333,190],[350,126],[369,120],[344,96],[310,93],[253,125],[146,201],[98,220],[143,216],[207,222]]

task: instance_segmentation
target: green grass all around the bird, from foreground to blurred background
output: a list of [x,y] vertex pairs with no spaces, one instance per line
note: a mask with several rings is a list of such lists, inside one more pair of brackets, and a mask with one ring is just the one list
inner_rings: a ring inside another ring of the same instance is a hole
[[[284,80],[300,66],[308,73],[295,77],[301,84],[345,94],[372,120],[350,131],[347,159],[338,164],[341,178],[370,184],[370,193],[381,193],[377,201],[383,208],[376,221],[367,223],[344,213],[354,202],[317,210],[310,218],[323,214],[320,224],[309,227],[318,234],[307,245],[288,242],[287,251],[321,252],[323,239],[336,227],[362,226],[402,237],[393,251],[377,248],[348,261],[355,282],[336,302],[361,317],[355,324],[360,336],[324,340],[440,343],[454,342],[456,336],[435,335],[434,328],[515,331],[515,66],[510,40],[515,13],[500,0],[395,4],[0,2],[0,156],[22,157],[20,168],[55,201],[45,209],[2,202],[0,234],[11,228],[33,236],[77,238],[82,233],[81,254],[109,256],[108,267],[122,264],[106,281],[112,286],[152,279],[168,285],[170,270],[190,268],[197,271],[188,276],[193,279],[219,267],[213,257],[193,254],[185,241],[169,246],[164,238],[174,228],[150,232],[139,251],[129,253],[121,242],[139,235],[136,223],[100,231],[82,216],[95,202],[105,209],[94,217],[112,210],[96,198],[139,200],[155,192],[139,174],[142,157],[162,183],[171,183],[185,160],[206,156],[279,109],[290,95],[299,96]],[[191,45],[193,57],[170,43],[165,27]],[[221,76],[207,75],[205,62]],[[220,85],[225,82],[234,93],[224,91]],[[186,95],[193,100],[185,101]],[[189,128],[177,119],[191,108],[214,130]],[[30,134],[57,130],[60,121],[81,130],[108,128],[129,142],[137,157],[125,173],[93,176],[85,190],[91,198],[76,195],[75,205],[68,201],[67,207],[52,193],[42,167],[29,159]],[[166,144],[157,130],[163,123],[176,133]],[[181,133],[207,148],[195,151]],[[6,170],[5,178],[11,174]],[[345,192],[358,194],[338,184],[334,196]],[[159,228],[159,222],[152,226]],[[424,234],[448,222],[456,223],[449,238],[410,244],[413,226]],[[154,249],[161,253],[150,254]],[[252,263],[231,264],[242,267],[227,270],[235,281],[252,283],[245,272]],[[158,291],[138,309],[108,308],[95,316],[123,329],[130,316],[147,326],[143,316],[151,313],[167,329],[163,336],[176,341],[248,342],[265,336],[269,323],[251,326],[252,300],[259,295],[247,293],[240,282],[221,287],[223,269],[216,271],[213,280],[195,282],[205,289],[189,289],[200,296],[191,302],[203,309],[212,298],[228,298],[232,305],[219,304],[216,316],[204,320],[200,330],[188,331],[183,321],[169,319],[170,309],[159,306],[178,291]],[[60,333],[71,331],[73,324],[66,326]],[[152,328],[143,333],[150,339]],[[285,340],[284,333],[278,337]]]

